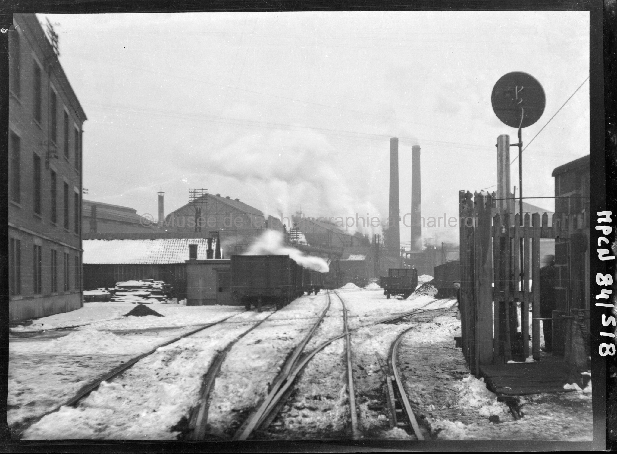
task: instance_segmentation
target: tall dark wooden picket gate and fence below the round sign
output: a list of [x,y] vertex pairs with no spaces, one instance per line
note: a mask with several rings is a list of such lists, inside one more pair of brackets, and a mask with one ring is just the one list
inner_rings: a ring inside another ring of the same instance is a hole
[[493,197],[459,193],[462,349],[475,375],[481,365],[529,356],[530,304],[532,356],[540,359],[540,292],[531,286],[540,278],[540,238],[568,241],[584,225],[582,215],[553,214],[549,227],[546,213],[527,213],[520,225],[520,214],[496,213]]

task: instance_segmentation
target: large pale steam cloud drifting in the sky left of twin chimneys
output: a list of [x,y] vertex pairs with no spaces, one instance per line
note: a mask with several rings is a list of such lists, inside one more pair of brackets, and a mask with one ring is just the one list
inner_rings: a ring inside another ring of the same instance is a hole
[[[232,177],[251,187],[254,198],[262,201],[255,203],[256,208],[265,215],[280,217],[283,213],[291,219],[300,205],[306,216],[316,218],[355,219],[356,214],[370,213],[383,219],[367,200],[370,188],[358,160],[339,153],[318,132],[276,129],[263,136],[231,140],[208,155],[204,164],[211,174]],[[352,225],[347,230],[380,233],[381,227]]]

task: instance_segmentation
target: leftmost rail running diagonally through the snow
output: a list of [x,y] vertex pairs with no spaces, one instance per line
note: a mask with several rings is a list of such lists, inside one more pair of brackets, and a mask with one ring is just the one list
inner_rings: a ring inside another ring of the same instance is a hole
[[[119,376],[122,373],[124,373],[126,370],[130,369],[131,367],[133,367],[140,360],[143,360],[144,358],[148,357],[149,355],[152,355],[155,351],[157,351],[161,347],[166,347],[166,346],[168,346],[170,344],[173,344],[173,343],[176,343],[176,342],[180,341],[180,339],[188,338],[189,336],[192,336],[193,334],[199,333],[200,331],[203,331],[203,330],[205,330],[207,328],[210,328],[211,326],[215,326],[215,325],[218,325],[219,323],[223,323],[226,320],[229,320],[230,318],[235,317],[236,315],[237,314],[230,315],[229,317],[222,318],[221,320],[218,320],[217,322],[207,323],[204,326],[200,326],[199,328],[197,328],[195,330],[192,330],[192,331],[189,331],[188,333],[181,334],[181,336],[177,336],[177,337],[171,339],[170,341],[167,341],[165,343],[159,344],[156,347],[154,347],[153,349],[151,349],[151,350],[149,350],[149,351],[147,351],[147,352],[145,352],[145,353],[143,353],[141,355],[138,355],[138,356],[136,356],[136,357],[134,357],[134,358],[124,362],[124,363],[122,363],[122,365],[119,365],[118,367],[115,367],[111,371],[107,372],[105,375],[102,375],[99,378],[96,378],[93,381],[89,382],[88,384],[85,384],[83,387],[81,387],[81,389],[79,391],[77,391],[77,393],[75,395],[73,395],[73,397],[71,397],[66,402],[58,405],[53,410],[47,411],[46,413],[44,413],[41,416],[36,416],[35,418],[31,418],[30,420],[25,421],[25,423],[20,424],[19,427],[14,428],[14,430],[16,432],[16,435],[18,437],[21,437],[23,432],[26,431],[30,426],[32,426],[33,424],[35,424],[38,421],[42,420],[45,416],[51,415],[52,413],[56,413],[56,411],[59,411],[60,408],[62,408],[62,407],[77,407],[77,404],[80,402],[80,400],[84,399],[85,397],[87,397],[89,394],[91,394],[91,392],[96,391],[96,389],[98,389],[99,386],[101,386],[102,382],[104,382],[104,381],[105,382],[109,382],[109,381],[113,380],[117,376]],[[270,317],[270,315],[268,315],[268,317]],[[259,322],[257,322],[256,325],[254,325],[251,329],[255,328],[257,325],[262,323],[268,317],[265,317],[262,320],[260,320]]]

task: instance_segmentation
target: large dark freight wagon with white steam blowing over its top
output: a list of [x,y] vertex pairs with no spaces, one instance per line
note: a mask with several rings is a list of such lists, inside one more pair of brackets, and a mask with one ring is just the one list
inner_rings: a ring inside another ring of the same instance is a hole
[[305,269],[289,256],[231,256],[231,295],[247,310],[289,302],[323,287],[323,274]]

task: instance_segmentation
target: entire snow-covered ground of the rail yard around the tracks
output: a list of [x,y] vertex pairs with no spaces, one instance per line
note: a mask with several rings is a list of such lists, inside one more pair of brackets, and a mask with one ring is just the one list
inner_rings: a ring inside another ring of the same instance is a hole
[[[424,285],[408,299],[386,299],[381,288],[337,290],[349,312],[358,421],[365,437],[412,439],[389,429],[380,358],[413,317],[379,320],[414,309],[448,309],[452,299],[434,299]],[[342,333],[341,302],[332,306],[305,351]],[[303,296],[278,312],[245,312],[234,306],[151,304],[164,317],[123,317],[135,304],[93,302],[67,314],[44,317],[11,330],[7,418],[26,439],[175,439],[181,421],[199,399],[202,378],[217,352],[257,321],[260,326],[234,345],[210,394],[208,434],[229,439],[269,391],[286,357],[327,304],[325,291]],[[441,312],[433,312],[441,314]],[[521,399],[524,417],[514,421],[485,384],[469,375],[453,336],[460,321],[453,310],[405,334],[399,368],[418,421],[438,439],[587,440],[591,436],[590,386],[563,394]],[[230,317],[230,318],[227,318]],[[222,323],[181,339],[136,363],[83,399],[62,405],[106,371],[206,323]],[[70,328],[69,328],[70,327]],[[294,392],[267,432],[269,438],[349,436],[344,340],[323,349],[294,384]],[[499,416],[498,424],[489,416]]]

